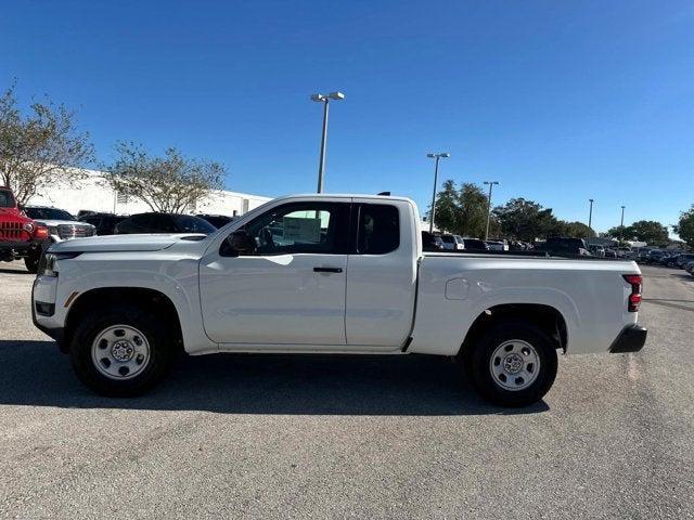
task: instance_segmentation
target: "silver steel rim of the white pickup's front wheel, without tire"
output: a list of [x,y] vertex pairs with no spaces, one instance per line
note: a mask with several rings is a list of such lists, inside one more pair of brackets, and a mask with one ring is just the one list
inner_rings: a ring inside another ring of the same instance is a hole
[[130,325],[114,325],[97,334],[91,346],[94,367],[110,379],[131,379],[150,361],[150,342]]

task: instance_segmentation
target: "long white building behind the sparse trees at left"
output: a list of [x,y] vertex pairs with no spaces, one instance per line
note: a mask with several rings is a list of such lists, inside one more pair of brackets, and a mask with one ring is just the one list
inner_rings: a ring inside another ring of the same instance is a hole
[[[80,210],[117,214],[152,211],[142,200],[126,197],[113,190],[104,181],[102,172],[95,170],[86,170],[86,172],[87,178],[76,185],[46,190],[40,196],[31,197],[28,206],[53,206],[65,209],[75,216]],[[201,199],[190,212],[237,217],[270,199],[270,197],[260,195],[215,190],[207,197]]]

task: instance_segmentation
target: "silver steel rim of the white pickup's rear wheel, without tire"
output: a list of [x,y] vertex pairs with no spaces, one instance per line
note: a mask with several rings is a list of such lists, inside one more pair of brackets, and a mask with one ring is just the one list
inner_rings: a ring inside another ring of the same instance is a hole
[[504,390],[518,391],[535,382],[540,373],[540,355],[527,341],[510,339],[493,351],[489,372]]

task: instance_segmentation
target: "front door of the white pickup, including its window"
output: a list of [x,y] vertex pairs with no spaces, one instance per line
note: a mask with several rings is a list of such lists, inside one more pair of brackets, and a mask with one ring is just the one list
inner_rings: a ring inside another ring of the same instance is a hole
[[249,250],[208,251],[200,289],[209,338],[345,344],[349,212],[349,202],[286,203],[244,225]]

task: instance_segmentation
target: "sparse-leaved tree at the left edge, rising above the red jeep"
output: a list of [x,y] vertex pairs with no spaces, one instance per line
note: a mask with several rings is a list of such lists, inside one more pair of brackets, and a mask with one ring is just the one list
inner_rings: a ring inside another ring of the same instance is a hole
[[0,185],[20,204],[55,185],[74,185],[80,166],[93,160],[89,134],[77,130],[75,113],[50,100],[31,104],[24,115],[12,84],[0,96]]

